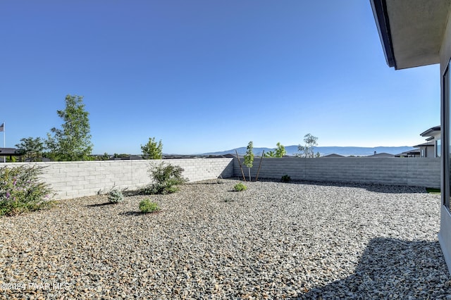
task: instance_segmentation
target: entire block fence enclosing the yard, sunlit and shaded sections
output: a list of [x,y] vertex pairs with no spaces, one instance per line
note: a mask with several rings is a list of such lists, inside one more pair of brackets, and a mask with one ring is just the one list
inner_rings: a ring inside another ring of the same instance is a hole
[[[242,177],[237,158],[166,159],[180,165],[190,182],[218,177]],[[44,165],[43,180],[56,191],[56,199],[70,199],[108,192],[112,187],[137,189],[148,185],[150,164],[155,161],[75,161],[35,163]],[[241,160],[242,163],[242,160]],[[252,178],[260,160],[255,158]],[[8,166],[24,163],[7,163]],[[0,165],[1,166],[1,165]],[[247,176],[247,167],[243,165]],[[323,182],[361,182],[384,185],[440,187],[440,158],[264,158],[259,178]]]

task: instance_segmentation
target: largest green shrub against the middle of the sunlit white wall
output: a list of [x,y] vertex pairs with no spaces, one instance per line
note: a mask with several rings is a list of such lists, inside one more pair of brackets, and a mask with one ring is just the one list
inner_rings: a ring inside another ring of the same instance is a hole
[[187,182],[182,176],[183,168],[178,165],[171,165],[171,163],[159,163],[152,165],[149,168],[154,183],[144,187],[144,194],[171,194],[179,189],[179,185]]

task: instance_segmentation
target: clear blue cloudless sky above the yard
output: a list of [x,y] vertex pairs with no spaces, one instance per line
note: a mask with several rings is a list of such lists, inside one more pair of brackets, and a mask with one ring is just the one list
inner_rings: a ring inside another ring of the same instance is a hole
[[388,68],[369,1],[0,1],[0,27],[6,146],[61,126],[66,94],[95,154],[412,146],[440,124],[438,65]]

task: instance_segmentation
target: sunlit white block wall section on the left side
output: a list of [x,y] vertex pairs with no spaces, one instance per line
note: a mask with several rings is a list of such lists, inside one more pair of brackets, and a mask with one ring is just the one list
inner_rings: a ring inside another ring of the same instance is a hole
[[[184,169],[190,182],[233,177],[233,158],[190,158],[142,161],[61,161],[44,165],[42,180],[56,192],[55,199],[70,199],[108,192],[112,187],[137,189],[151,183],[151,163],[171,163]],[[25,163],[7,163],[7,166]],[[3,164],[2,164],[3,165]],[[2,166],[0,165],[0,166]]]

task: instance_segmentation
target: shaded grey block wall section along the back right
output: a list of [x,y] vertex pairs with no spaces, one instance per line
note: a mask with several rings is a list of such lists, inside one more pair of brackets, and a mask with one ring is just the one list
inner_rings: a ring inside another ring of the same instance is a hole
[[[240,160],[248,177],[247,167]],[[260,158],[254,159],[251,176],[255,178]],[[234,174],[242,177],[237,158]],[[323,182],[359,182],[383,185],[440,187],[440,158],[263,158],[259,178]]]

